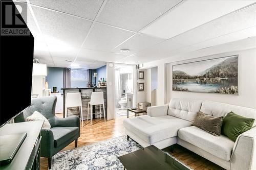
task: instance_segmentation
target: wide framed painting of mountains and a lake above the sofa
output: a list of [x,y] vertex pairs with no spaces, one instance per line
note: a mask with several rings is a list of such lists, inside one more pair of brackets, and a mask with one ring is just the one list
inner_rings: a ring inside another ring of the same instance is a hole
[[173,90],[238,95],[238,55],[173,65]]

